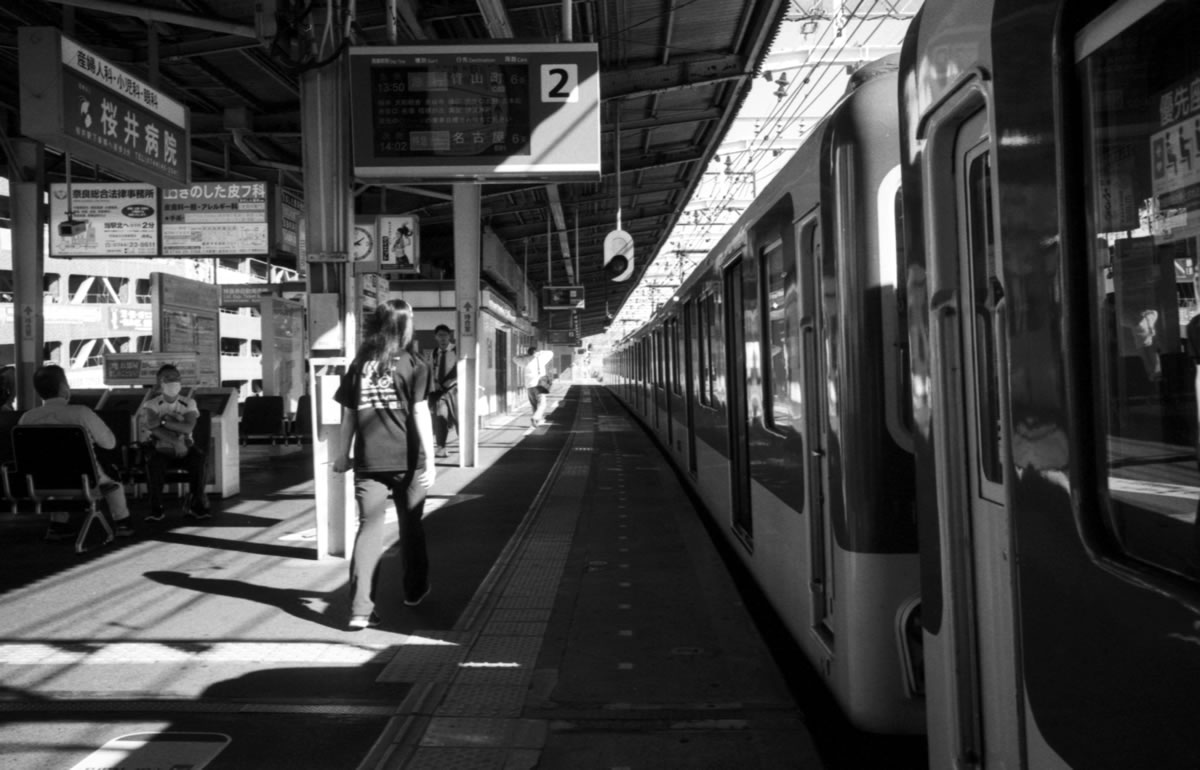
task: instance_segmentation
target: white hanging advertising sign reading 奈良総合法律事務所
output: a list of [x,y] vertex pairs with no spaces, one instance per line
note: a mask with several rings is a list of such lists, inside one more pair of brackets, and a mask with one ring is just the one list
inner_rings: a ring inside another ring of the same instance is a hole
[[[158,190],[127,182],[50,185],[50,257],[154,257]],[[67,222],[74,228],[66,227]]]

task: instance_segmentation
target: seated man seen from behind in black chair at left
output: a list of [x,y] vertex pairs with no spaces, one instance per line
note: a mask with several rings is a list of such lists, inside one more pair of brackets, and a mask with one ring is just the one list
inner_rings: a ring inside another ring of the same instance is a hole
[[[116,446],[116,437],[104,421],[95,411],[83,404],[67,403],[71,399],[71,385],[67,384],[67,374],[62,367],[48,363],[37,367],[34,372],[34,390],[42,397],[42,405],[30,409],[20,415],[18,425],[80,425],[91,437],[91,443],[101,449],[113,449]],[[130,527],[130,507],[125,503],[125,487],[100,469],[100,491],[104,495],[108,505],[108,515],[113,519],[113,531],[119,537],[133,535]],[[67,527],[67,513],[55,511],[50,513],[50,528],[46,531],[46,540],[64,540],[74,535]]]

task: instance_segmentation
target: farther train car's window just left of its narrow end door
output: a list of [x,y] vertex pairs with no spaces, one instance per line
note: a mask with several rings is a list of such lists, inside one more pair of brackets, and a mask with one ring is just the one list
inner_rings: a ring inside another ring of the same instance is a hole
[[774,429],[791,428],[799,420],[799,295],[796,289],[796,260],[787,259],[782,241],[764,249],[762,265],[767,289],[767,338],[763,339],[763,404],[767,425]]

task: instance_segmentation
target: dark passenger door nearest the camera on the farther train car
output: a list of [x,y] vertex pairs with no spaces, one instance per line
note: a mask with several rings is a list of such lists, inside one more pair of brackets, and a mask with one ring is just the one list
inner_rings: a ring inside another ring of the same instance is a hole
[[745,259],[740,255],[725,269],[725,356],[730,426],[730,504],[734,531],[746,542],[754,537],[750,516],[750,426],[746,411],[746,343],[744,285]]

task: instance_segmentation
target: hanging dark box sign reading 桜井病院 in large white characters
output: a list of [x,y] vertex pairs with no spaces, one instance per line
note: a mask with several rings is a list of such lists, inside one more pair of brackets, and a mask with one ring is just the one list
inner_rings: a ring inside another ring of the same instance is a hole
[[47,26],[22,28],[20,131],[162,187],[190,180],[182,103]]

